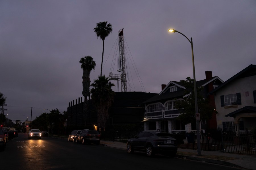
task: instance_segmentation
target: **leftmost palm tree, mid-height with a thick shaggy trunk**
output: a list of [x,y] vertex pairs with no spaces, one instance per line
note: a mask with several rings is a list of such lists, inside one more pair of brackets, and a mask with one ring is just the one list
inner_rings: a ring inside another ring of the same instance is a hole
[[95,69],[96,63],[93,61],[93,58],[91,56],[85,56],[80,59],[79,63],[81,63],[81,68],[83,69],[83,91],[82,95],[84,96],[84,99],[87,100],[90,99],[90,73],[92,69]]

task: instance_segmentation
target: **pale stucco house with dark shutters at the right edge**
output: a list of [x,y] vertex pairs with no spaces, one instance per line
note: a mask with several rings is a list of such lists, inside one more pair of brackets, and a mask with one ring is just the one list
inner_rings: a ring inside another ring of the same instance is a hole
[[256,65],[249,65],[212,90],[217,126],[238,133],[256,126]]

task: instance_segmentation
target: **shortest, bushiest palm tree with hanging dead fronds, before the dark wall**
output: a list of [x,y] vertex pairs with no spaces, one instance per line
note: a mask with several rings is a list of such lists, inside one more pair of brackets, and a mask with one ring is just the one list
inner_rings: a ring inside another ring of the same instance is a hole
[[115,92],[111,87],[115,86],[115,84],[110,83],[109,79],[103,75],[98,76],[98,79],[95,79],[91,86],[93,86],[91,89],[91,99],[96,108],[98,127],[105,128],[108,120],[108,109],[114,102]]

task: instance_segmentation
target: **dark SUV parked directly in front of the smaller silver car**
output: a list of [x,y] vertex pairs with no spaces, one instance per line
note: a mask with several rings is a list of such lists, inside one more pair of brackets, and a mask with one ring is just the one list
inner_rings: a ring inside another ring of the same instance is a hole
[[100,144],[100,133],[96,130],[84,129],[76,137],[76,143],[82,142],[85,143],[94,143],[96,145]]

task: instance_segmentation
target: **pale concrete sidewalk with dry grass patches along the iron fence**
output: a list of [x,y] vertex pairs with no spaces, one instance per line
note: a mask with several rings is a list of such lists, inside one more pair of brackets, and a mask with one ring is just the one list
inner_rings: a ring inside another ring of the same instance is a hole
[[[100,141],[100,144],[104,146],[126,150],[126,143],[122,142]],[[178,158],[256,170],[256,156],[203,150],[201,150],[201,154],[202,156],[197,156],[197,150],[178,148],[176,156]]]

